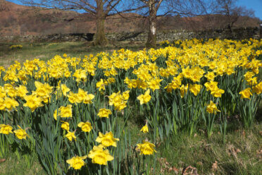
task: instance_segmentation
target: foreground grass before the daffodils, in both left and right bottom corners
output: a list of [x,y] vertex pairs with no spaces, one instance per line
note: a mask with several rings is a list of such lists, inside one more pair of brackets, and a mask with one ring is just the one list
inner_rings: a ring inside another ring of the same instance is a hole
[[[141,126],[129,123],[133,142]],[[237,129],[228,131],[224,144],[218,124],[213,135],[208,140],[204,131],[189,136],[180,133],[173,135],[168,143],[158,143],[155,153],[156,166],[151,174],[182,174],[186,167],[197,169],[198,174],[261,174],[262,173],[262,141],[261,123],[256,123],[251,130]],[[150,158],[150,167],[154,159]],[[32,164],[27,165],[23,158],[18,159],[14,153],[5,157],[0,163],[0,174],[46,174],[36,155],[32,156]],[[191,170],[191,169],[189,169]],[[189,172],[189,170],[187,172]]]

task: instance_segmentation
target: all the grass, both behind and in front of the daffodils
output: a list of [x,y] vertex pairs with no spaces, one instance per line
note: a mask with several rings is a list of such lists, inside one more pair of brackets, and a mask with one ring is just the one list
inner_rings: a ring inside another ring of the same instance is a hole
[[[68,56],[85,56],[113,49],[142,49],[142,43],[111,43],[106,47],[91,47],[87,42],[62,42],[62,43],[22,43],[22,49],[9,49],[12,44],[0,43],[0,64],[9,66],[13,61],[20,62],[26,59],[39,58],[51,59],[56,54]],[[262,72],[262,70],[260,71]],[[259,78],[262,78],[260,73]],[[239,121],[235,119],[228,126],[226,143],[223,143],[218,123],[215,125],[211,138],[206,138],[205,131],[199,129],[197,133],[189,136],[186,133],[173,135],[165,143],[156,145],[156,164],[154,156],[150,157],[149,165],[151,174],[182,174],[195,169],[198,174],[262,174],[262,131],[261,116],[262,102],[258,110],[254,128],[244,130]],[[146,135],[139,130],[144,122],[132,119],[127,126],[130,127],[132,143],[137,142],[140,136]],[[152,158],[153,157],[153,158]],[[18,158],[14,152],[0,158],[0,174],[46,174],[36,155],[31,155],[32,164],[25,164],[25,157]],[[191,166],[191,167],[189,167]]]

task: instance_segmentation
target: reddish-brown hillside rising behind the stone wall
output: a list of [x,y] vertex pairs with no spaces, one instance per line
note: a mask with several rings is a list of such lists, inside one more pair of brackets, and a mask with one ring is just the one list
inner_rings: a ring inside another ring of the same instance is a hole
[[[125,17],[125,18],[123,18]],[[106,20],[106,32],[145,31],[147,23],[136,13],[124,13]],[[256,27],[258,18],[240,17],[235,27]],[[225,28],[224,16],[158,18],[158,30],[206,30]],[[54,33],[94,33],[96,23],[89,13],[33,8],[0,0],[0,35],[49,35]]]

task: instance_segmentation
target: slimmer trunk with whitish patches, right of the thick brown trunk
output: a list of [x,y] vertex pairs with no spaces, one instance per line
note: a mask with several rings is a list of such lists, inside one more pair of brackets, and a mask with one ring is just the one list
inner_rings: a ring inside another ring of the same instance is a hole
[[149,35],[146,47],[156,48],[156,6],[153,0],[149,0]]

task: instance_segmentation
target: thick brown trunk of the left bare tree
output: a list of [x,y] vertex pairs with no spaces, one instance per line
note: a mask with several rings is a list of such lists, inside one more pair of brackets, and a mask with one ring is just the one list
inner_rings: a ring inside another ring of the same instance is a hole
[[106,45],[106,33],[105,33],[105,20],[106,14],[104,13],[103,4],[97,4],[96,13],[96,35],[94,39],[94,45]]

